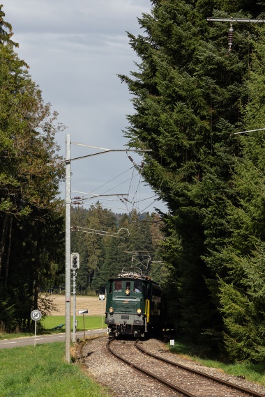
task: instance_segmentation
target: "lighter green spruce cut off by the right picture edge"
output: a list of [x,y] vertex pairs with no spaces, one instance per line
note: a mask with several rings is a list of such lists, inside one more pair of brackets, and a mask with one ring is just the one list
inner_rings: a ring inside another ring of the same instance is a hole
[[[265,29],[252,43],[248,78],[249,101],[245,107],[246,130],[264,127]],[[265,360],[265,134],[263,130],[240,135],[242,157],[234,173],[237,200],[229,201],[228,230],[222,249],[227,277],[220,280],[220,303],[225,320],[225,344],[232,359]]]

